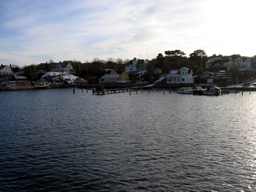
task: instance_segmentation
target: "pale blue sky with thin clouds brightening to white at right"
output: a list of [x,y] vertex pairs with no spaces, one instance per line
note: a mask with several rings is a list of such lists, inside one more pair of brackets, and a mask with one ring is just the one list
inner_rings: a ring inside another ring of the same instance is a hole
[[0,63],[256,55],[253,0],[0,0]]

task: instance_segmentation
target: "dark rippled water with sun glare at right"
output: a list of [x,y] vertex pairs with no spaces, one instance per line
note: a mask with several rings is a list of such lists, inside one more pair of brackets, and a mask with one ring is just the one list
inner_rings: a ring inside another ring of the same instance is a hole
[[256,191],[255,92],[0,96],[0,191]]

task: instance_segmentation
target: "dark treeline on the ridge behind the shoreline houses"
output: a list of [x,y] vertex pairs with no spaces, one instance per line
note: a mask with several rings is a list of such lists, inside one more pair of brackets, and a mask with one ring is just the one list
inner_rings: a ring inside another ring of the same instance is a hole
[[[181,67],[187,67],[193,70],[195,75],[201,76],[201,73],[205,70],[205,63],[209,58],[212,57],[221,57],[221,58],[242,58],[246,59],[247,57],[241,56],[239,54],[234,55],[212,55],[207,56],[204,50],[198,49],[194,52],[190,53],[189,56],[186,56],[186,53],[183,51],[176,50],[167,50],[162,53],[158,53],[156,58],[153,58],[150,61],[147,61],[142,69],[146,69],[147,72],[144,74],[143,79],[145,81],[152,81],[153,69],[160,68],[163,70],[163,73],[169,73],[170,70],[178,70]],[[99,58],[93,58],[93,61],[86,61],[82,63],[81,61],[76,61],[75,59],[70,61],[72,66],[76,69],[76,76],[86,79],[90,81],[90,79],[98,79],[99,77],[104,75],[105,69],[115,69],[115,70],[125,70],[125,67],[128,66],[129,61],[131,59],[122,60],[121,58],[108,58],[107,60],[100,60]],[[37,73],[38,71],[51,71],[52,65],[55,62],[51,59],[48,62],[41,64],[31,64],[29,66],[24,66],[19,68],[18,66],[13,65],[12,70],[14,72],[23,71],[26,76],[29,74]],[[252,68],[256,69],[256,56],[251,60]],[[217,70],[227,70],[225,66],[221,65],[218,67],[211,67],[207,69],[208,71],[217,71]]]

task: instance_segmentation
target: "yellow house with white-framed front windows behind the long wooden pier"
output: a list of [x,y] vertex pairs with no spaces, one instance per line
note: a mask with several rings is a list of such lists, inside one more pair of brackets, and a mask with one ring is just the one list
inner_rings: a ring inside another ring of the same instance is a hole
[[130,77],[126,70],[107,70],[99,79],[99,83],[129,83]]

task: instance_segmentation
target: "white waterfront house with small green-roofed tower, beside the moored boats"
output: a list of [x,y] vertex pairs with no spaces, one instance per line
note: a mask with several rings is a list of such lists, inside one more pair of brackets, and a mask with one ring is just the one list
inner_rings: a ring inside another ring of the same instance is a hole
[[182,67],[179,70],[170,70],[166,75],[166,83],[194,83],[193,71],[186,67]]

